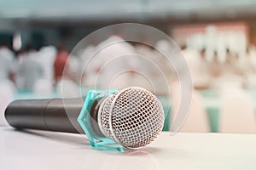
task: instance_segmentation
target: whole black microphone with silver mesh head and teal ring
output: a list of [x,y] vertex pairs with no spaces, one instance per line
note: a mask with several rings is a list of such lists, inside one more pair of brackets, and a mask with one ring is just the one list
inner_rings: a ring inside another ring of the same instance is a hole
[[131,87],[108,93],[90,90],[85,100],[15,100],[5,118],[17,129],[85,133],[92,146],[115,143],[134,149],[158,136],[165,114],[154,94]]

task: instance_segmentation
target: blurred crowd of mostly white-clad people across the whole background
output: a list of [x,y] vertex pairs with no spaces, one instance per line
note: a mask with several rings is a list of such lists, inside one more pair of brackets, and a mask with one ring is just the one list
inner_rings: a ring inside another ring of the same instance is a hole
[[[112,42],[115,43],[105,47]],[[27,46],[16,54],[2,45],[0,82],[9,80],[20,90],[36,91],[37,88],[52,90],[64,78],[85,87],[105,89],[138,85],[152,89],[156,94],[165,94],[166,89],[160,88],[163,82],[172,83],[177,79],[177,69],[183,69],[182,64],[175,67],[163,55],[173,55],[172,48],[166,40],[156,42],[152,48],[125,42],[117,36],[79,48],[72,54],[64,45],[39,50]],[[180,48],[189,65],[194,88],[256,87],[254,46],[247,47],[245,53],[230,48],[224,48],[221,54],[212,50],[210,57],[207,48],[194,48],[189,43]]]

